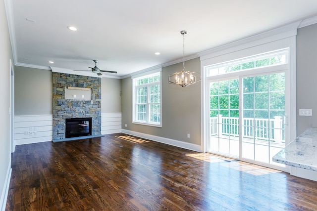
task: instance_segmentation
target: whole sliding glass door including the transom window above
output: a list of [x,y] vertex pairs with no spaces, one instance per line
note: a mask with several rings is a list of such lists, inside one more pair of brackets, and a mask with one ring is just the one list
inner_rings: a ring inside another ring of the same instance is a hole
[[208,152],[285,167],[272,157],[285,147],[288,134],[287,53],[269,52],[206,68]]

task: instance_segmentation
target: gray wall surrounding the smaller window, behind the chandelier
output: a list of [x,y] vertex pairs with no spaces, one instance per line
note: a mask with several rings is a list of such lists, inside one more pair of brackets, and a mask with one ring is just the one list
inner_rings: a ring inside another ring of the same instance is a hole
[[[200,59],[185,62],[188,71],[200,72]],[[131,78],[122,80],[122,128],[201,145],[200,82],[188,87],[168,84],[168,75],[179,72],[183,64],[162,68],[162,127],[132,124]],[[124,127],[127,124],[127,127]],[[190,138],[187,138],[190,133]]]

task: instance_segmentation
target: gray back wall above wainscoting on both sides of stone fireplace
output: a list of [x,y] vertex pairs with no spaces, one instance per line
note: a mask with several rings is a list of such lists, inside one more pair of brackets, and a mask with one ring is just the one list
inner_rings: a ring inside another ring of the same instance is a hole
[[[15,66],[15,115],[53,114],[52,71]],[[121,112],[121,80],[102,78],[102,113]]]

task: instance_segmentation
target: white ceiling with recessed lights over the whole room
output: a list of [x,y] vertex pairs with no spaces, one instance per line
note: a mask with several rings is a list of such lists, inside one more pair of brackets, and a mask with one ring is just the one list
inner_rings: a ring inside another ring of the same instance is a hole
[[[188,56],[317,15],[317,0],[11,0],[10,3],[15,64],[89,70],[87,66],[93,67],[92,60],[98,59],[100,69],[118,72],[104,75],[118,77],[181,59],[181,30],[188,32],[185,35],[185,56]],[[69,25],[76,26],[78,31],[68,30]]]

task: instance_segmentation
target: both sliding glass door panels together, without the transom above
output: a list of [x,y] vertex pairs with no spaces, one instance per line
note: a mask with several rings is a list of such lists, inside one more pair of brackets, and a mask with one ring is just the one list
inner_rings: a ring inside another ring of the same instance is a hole
[[219,80],[209,87],[208,151],[279,165],[272,156],[285,147],[285,72]]

